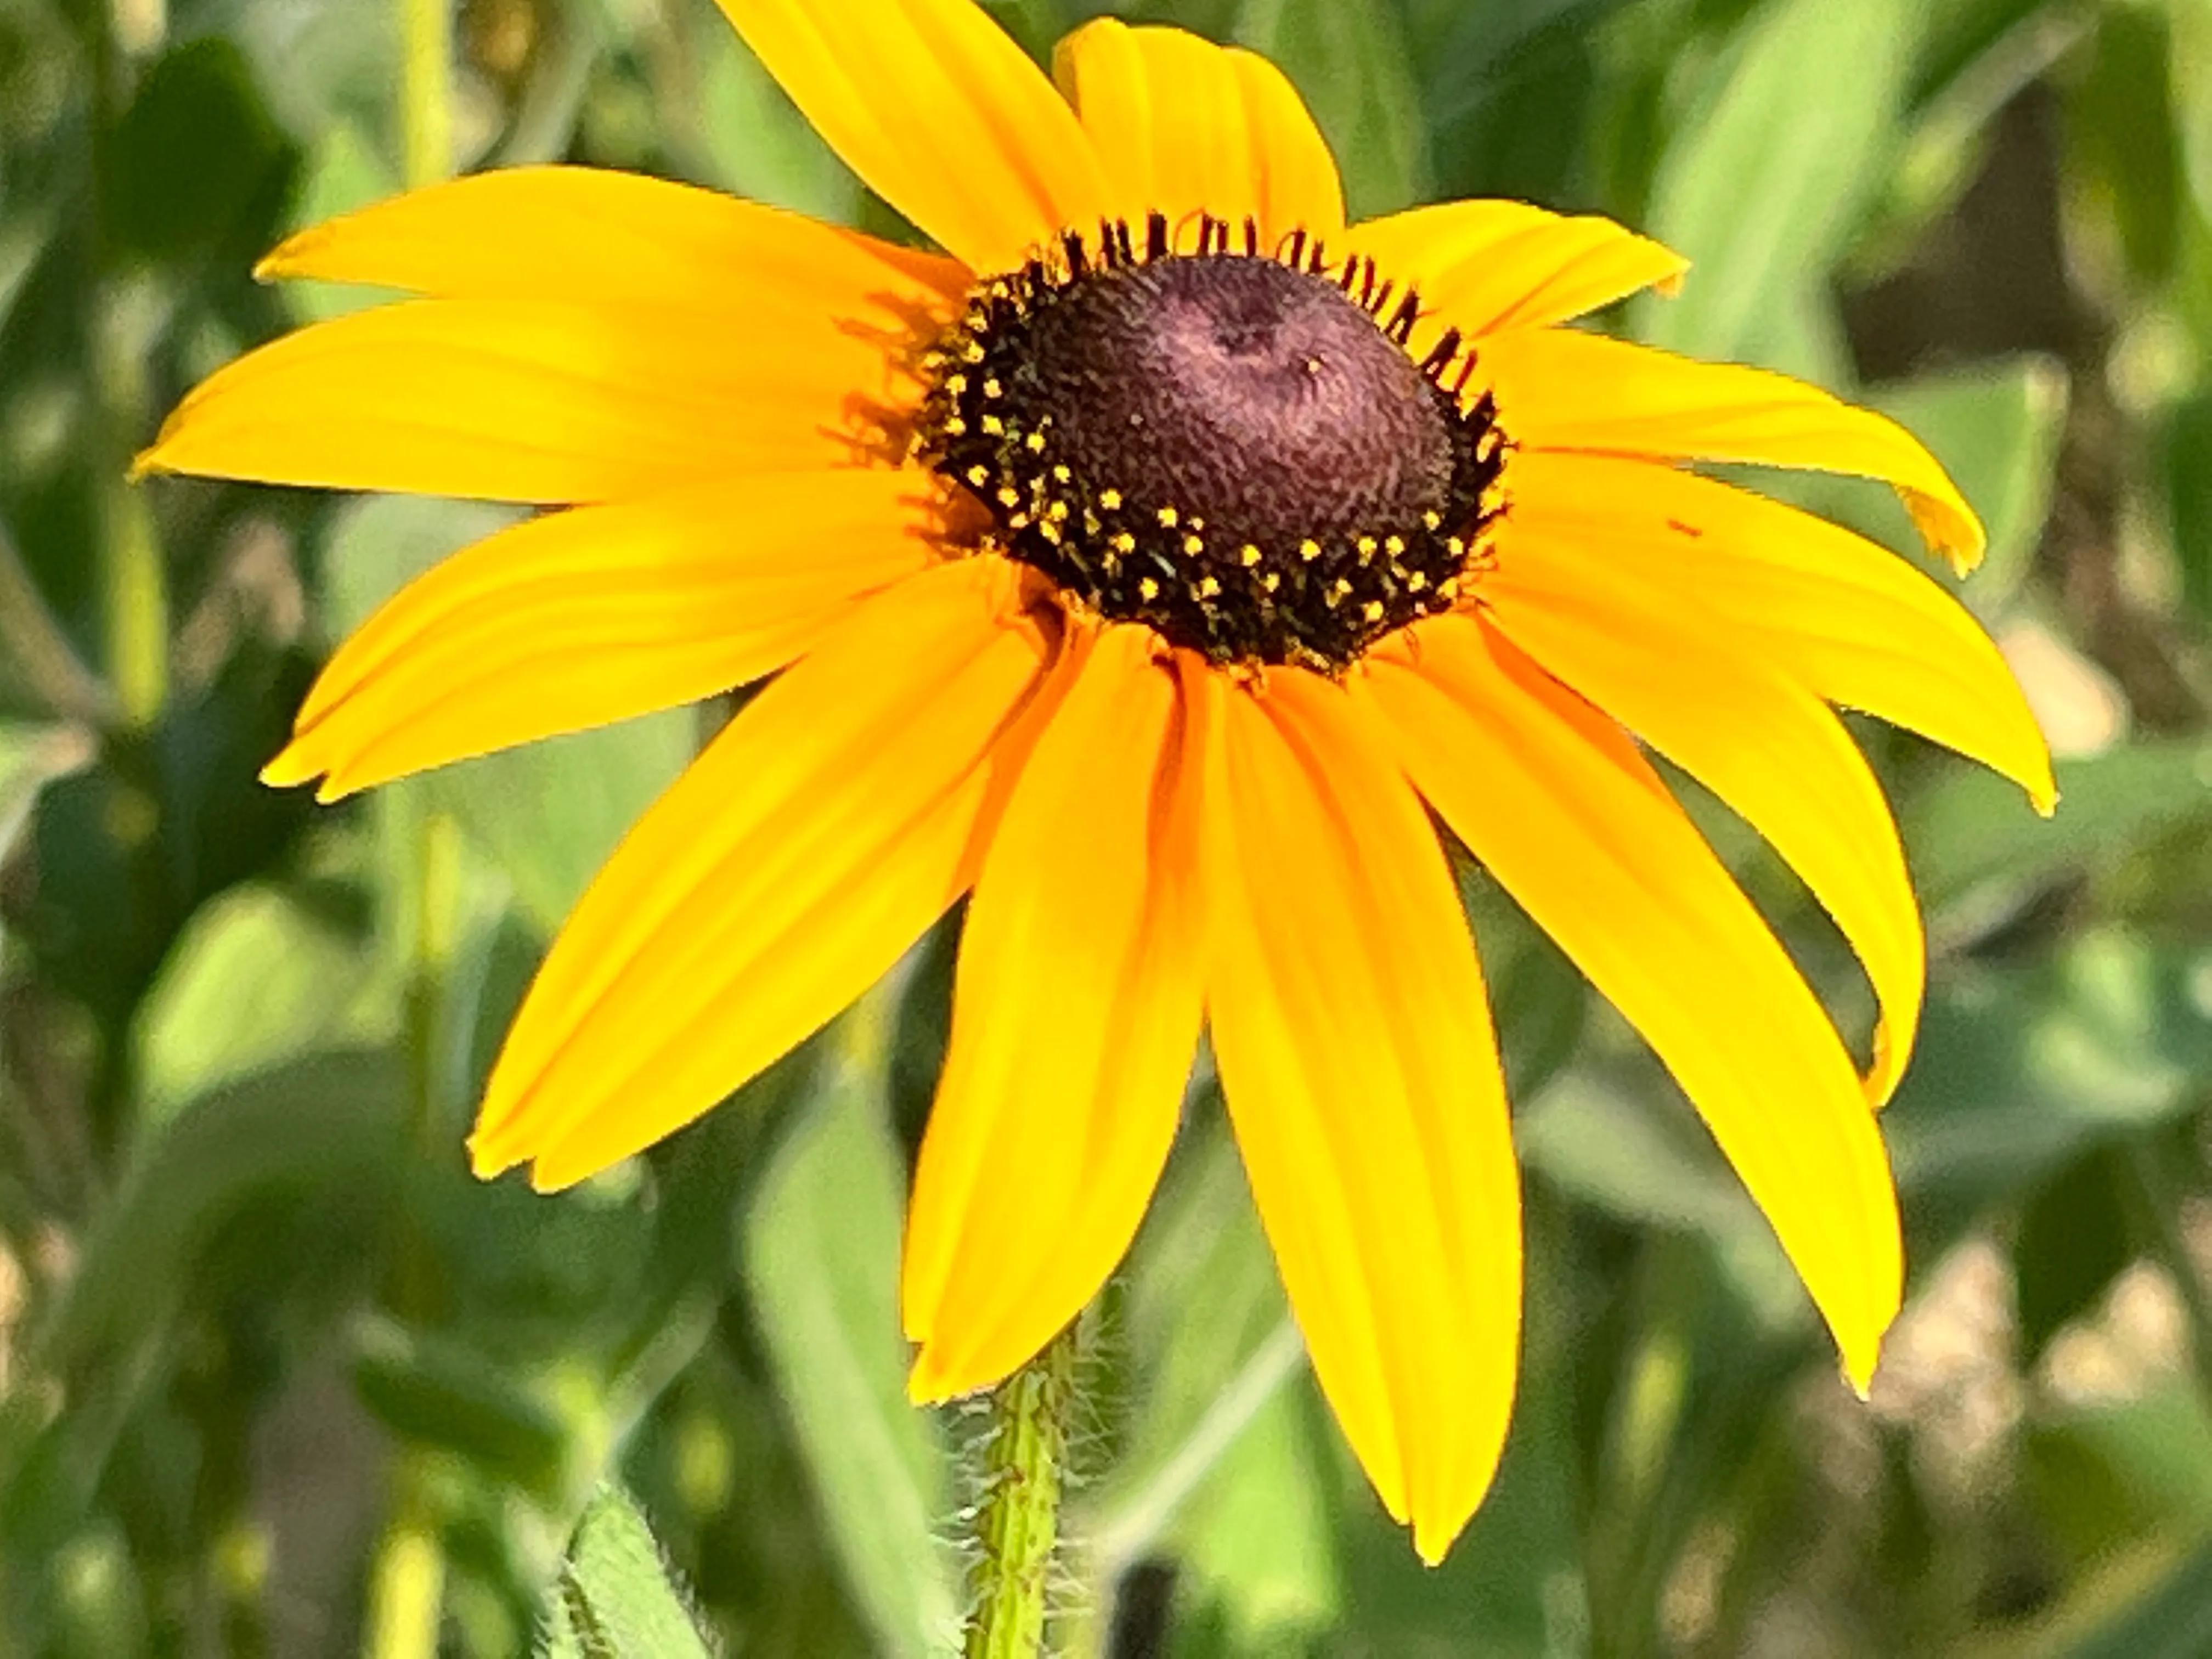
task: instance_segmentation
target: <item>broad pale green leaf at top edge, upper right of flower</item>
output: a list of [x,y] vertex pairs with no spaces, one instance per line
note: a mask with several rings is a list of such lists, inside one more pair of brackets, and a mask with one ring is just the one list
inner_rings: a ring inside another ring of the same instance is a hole
[[1781,0],[1750,24],[1710,106],[1668,144],[1648,230],[1694,261],[1639,334],[1763,361],[1781,307],[1818,281],[1880,186],[1911,64],[1913,0]]

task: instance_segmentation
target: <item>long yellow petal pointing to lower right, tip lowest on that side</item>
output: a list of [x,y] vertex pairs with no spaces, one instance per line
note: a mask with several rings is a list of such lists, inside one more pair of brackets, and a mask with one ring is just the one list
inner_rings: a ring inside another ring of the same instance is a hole
[[1358,690],[1444,823],[1674,1073],[1865,1391],[1905,1265],[1843,1040],[1613,721],[1473,615],[1418,637]]

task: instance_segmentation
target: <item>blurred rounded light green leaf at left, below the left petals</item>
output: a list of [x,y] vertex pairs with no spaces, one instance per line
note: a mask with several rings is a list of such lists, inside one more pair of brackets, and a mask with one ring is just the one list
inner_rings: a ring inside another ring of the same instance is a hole
[[279,887],[248,883],[192,914],[139,1004],[146,1128],[188,1099],[312,1048],[398,1035],[398,987],[376,958]]

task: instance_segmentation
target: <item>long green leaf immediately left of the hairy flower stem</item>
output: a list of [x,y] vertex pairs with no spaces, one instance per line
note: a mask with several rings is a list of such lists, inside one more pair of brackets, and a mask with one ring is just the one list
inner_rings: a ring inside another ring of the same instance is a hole
[[[847,1042],[872,1048],[874,1018],[847,1015]],[[885,1652],[922,1659],[956,1628],[958,1597],[936,1535],[951,1458],[905,1389],[902,1188],[880,1064],[847,1048],[761,1179],[745,1276],[845,1577]]]

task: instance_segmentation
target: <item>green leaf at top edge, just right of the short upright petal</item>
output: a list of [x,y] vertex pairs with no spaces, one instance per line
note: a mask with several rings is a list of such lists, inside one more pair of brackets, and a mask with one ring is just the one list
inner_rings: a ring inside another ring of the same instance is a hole
[[1420,199],[1420,86],[1394,0],[1241,0],[1234,38],[1274,60],[1314,111],[1354,219]]

